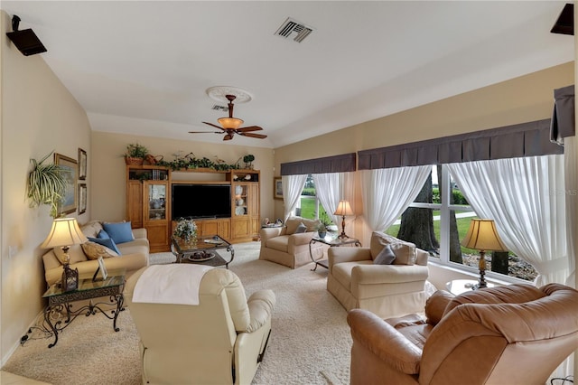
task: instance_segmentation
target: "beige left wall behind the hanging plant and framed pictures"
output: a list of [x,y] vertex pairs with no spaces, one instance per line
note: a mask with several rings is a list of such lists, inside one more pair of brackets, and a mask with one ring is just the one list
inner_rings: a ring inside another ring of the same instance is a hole
[[[38,246],[51,229],[51,217],[48,206],[31,209],[25,200],[30,159],[40,159],[52,150],[77,159],[79,147],[90,147],[90,127],[84,110],[42,55],[25,57],[7,40],[5,33],[12,31],[12,25],[5,12],[1,17],[0,353],[4,362],[41,312],[46,285],[43,250]],[[87,211],[79,221],[89,216]],[[9,248],[16,249],[13,256]]]

